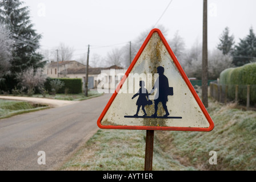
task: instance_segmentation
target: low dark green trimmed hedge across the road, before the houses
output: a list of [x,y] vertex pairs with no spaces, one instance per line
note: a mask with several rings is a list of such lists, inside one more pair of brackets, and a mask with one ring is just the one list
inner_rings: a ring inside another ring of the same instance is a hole
[[77,94],[82,93],[82,79],[81,78],[47,78],[45,82],[45,89],[50,92],[51,80],[61,80],[64,82],[64,86],[58,90],[58,93],[65,93],[65,89],[68,89],[68,93]]

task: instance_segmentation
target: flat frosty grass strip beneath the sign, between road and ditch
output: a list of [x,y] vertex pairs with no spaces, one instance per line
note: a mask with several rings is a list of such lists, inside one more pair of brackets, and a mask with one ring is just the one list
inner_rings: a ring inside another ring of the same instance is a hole
[[[142,171],[145,162],[146,131],[98,130],[60,170]],[[193,170],[163,154],[155,143],[154,170]]]

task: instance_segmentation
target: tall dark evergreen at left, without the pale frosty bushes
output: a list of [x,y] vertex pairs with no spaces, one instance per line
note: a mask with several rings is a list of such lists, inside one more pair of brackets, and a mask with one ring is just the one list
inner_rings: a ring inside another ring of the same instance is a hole
[[10,71],[13,76],[24,69],[33,67],[42,68],[43,56],[36,52],[39,48],[41,35],[33,29],[29,16],[29,7],[22,6],[19,0],[0,1],[0,22],[9,29],[14,40],[13,60]]

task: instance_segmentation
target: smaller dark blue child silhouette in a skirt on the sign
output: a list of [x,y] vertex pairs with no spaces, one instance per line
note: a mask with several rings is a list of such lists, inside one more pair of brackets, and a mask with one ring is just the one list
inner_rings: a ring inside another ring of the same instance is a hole
[[136,105],[137,107],[137,113],[134,114],[135,117],[138,116],[139,113],[139,109],[142,106],[142,110],[144,112],[143,116],[146,116],[147,113],[145,111],[145,106],[148,104],[148,99],[149,99],[149,93],[147,92],[147,89],[144,87],[145,86],[145,82],[144,81],[139,81],[139,86],[141,86],[141,88],[139,89],[137,94],[134,94],[134,96],[131,99],[134,99],[135,97],[139,96]]

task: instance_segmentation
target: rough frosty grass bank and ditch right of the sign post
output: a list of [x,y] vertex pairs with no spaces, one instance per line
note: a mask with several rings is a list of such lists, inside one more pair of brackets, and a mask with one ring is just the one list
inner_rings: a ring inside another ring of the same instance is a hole
[[[162,150],[199,170],[256,170],[256,112],[237,109],[235,104],[209,104],[213,131],[159,131]],[[216,165],[209,164],[210,151],[217,152]]]

